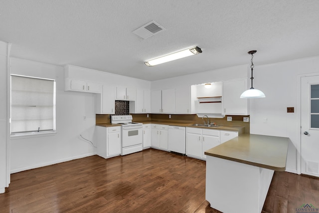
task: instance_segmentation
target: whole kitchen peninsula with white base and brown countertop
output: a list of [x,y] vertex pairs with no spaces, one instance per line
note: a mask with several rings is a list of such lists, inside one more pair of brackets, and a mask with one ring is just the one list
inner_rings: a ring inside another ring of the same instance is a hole
[[224,213],[260,213],[289,138],[244,134],[205,152],[206,200]]

